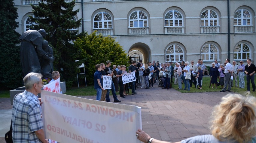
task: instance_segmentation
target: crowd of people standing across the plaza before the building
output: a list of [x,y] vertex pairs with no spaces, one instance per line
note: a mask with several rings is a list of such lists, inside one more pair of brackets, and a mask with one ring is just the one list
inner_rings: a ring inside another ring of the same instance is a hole
[[[110,102],[109,93],[110,90],[105,90],[102,87],[102,76],[111,76],[112,77],[112,94],[114,102],[120,102],[117,99],[116,91],[119,91],[120,98],[125,98],[127,95],[127,90],[129,88],[132,90],[132,95],[136,94],[136,88],[140,85],[140,88],[150,89],[154,87],[156,81],[158,80],[159,84],[161,83],[162,89],[169,90],[171,87],[172,77],[174,77],[174,84],[178,84],[179,90],[190,91],[190,87],[194,85],[198,89],[202,89],[203,76],[210,75],[212,88],[217,89],[217,86],[221,86],[221,92],[230,91],[231,87],[245,88],[244,76],[246,74],[247,79],[247,90],[250,91],[250,82],[252,84],[252,91],[255,91],[254,83],[254,73],[256,72],[256,67],[251,63],[251,59],[246,60],[247,65],[244,65],[244,62],[240,61],[240,66],[236,64],[236,61],[233,61],[233,65],[230,64],[230,59],[226,59],[223,64],[218,63],[217,60],[212,62],[212,66],[209,68],[206,64],[203,64],[203,60],[198,59],[197,64],[194,61],[184,62],[181,61],[159,63],[148,62],[143,64],[142,60],[136,64],[136,61],[132,61],[132,64],[129,66],[129,70],[126,70],[125,65],[113,65],[111,66],[111,61],[106,61],[106,66],[104,63],[97,64],[96,72],[94,74],[94,87],[97,90],[97,100]],[[97,71],[98,70],[98,71]],[[135,71],[136,81],[130,82],[128,84],[123,84],[121,76],[123,73],[129,73]],[[237,80],[239,78],[239,84]],[[235,83],[233,84],[233,81]],[[184,88],[182,87],[184,83]],[[119,88],[119,87],[120,88]]]

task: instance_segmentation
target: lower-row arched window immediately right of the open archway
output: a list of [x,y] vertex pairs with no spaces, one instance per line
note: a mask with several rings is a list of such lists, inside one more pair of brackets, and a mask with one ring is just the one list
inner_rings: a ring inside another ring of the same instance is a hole
[[183,50],[179,45],[173,44],[166,49],[166,61],[183,61]]

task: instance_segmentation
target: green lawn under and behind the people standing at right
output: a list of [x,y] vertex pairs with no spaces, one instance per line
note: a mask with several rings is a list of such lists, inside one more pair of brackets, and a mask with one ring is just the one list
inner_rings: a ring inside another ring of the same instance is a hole
[[[196,89],[194,85],[192,85],[192,87],[190,87],[190,91],[179,90],[178,89],[178,84],[174,84],[174,83],[172,84],[172,88],[180,91],[181,93],[221,91],[221,86],[217,86],[217,89],[215,89],[215,85],[214,85],[214,88],[212,89],[212,85],[211,85],[211,87],[209,88],[210,80],[211,80],[210,77],[203,76],[202,90]],[[174,78],[173,78],[173,82],[174,82]],[[237,82],[238,82],[238,85],[239,85],[239,79],[238,78],[237,78]],[[233,81],[233,84],[235,84],[235,81]],[[239,88],[239,86],[238,87],[231,87],[231,91],[234,92],[234,93],[239,93],[239,94],[245,95],[245,92],[247,91],[246,84],[247,84],[247,82],[246,82],[246,76],[245,76],[245,88],[242,89],[242,88]],[[184,83],[182,84],[182,88],[184,88]],[[251,90],[252,90],[252,86],[251,86]],[[251,92],[250,95],[256,97],[256,92]]]

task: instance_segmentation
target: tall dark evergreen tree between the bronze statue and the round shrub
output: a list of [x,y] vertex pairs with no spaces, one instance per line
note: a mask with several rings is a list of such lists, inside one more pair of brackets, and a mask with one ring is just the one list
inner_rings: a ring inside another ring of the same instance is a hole
[[[61,73],[61,80],[66,81],[67,86],[76,80],[76,73],[79,70],[76,67],[84,61],[79,59],[81,53],[71,43],[78,37],[78,31],[72,32],[69,29],[76,29],[81,23],[81,19],[73,20],[79,11],[79,9],[73,11],[74,7],[75,0],[70,3],[64,0],[41,0],[39,5],[32,5],[35,18],[30,17],[38,24],[31,28],[35,30],[42,28],[48,33],[45,39],[53,47],[54,67]],[[81,61],[78,63],[75,60]]]

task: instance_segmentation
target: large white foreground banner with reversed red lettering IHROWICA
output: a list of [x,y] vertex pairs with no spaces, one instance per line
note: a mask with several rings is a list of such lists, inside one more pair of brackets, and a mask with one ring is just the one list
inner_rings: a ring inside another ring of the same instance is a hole
[[61,143],[140,143],[141,107],[42,90],[44,132]]

